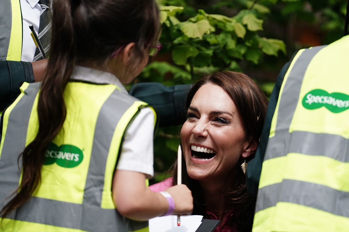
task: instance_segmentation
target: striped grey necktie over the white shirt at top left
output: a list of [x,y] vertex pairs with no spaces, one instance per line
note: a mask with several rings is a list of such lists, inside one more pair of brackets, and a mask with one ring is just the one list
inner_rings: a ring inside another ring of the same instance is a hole
[[[52,11],[50,8],[50,0],[39,0],[38,2],[43,9],[40,12],[40,24],[39,24],[39,40],[43,45],[44,51],[47,57],[50,56],[50,40],[51,40],[51,19],[52,19]],[[43,56],[40,53],[39,48],[36,48],[35,55],[33,61],[39,61],[43,59]]]

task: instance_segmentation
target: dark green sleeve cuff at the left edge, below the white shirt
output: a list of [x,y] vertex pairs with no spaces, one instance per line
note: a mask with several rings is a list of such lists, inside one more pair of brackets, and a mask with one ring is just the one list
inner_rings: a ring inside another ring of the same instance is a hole
[[30,62],[0,61],[0,111],[20,94],[20,85],[35,82]]

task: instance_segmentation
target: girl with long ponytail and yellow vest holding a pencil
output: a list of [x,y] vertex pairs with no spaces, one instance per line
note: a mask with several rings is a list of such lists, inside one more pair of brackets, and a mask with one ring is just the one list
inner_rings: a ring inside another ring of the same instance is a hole
[[54,1],[44,81],[24,83],[3,113],[4,231],[147,230],[191,213],[185,185],[147,189],[156,114],[121,84],[156,53],[158,30],[154,0]]

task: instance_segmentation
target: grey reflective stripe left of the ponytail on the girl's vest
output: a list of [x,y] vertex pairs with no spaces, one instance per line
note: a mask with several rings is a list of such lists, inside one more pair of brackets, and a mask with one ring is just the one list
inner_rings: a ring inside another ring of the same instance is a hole
[[[32,83],[29,85],[24,91],[25,94],[23,97],[9,114],[8,127],[6,129],[5,141],[0,157],[1,208],[8,202],[8,200],[3,200],[18,188],[21,173],[18,169],[17,158],[25,147],[30,113],[39,87],[40,83]],[[5,113],[6,111],[4,114]],[[5,176],[6,178],[3,178]]]

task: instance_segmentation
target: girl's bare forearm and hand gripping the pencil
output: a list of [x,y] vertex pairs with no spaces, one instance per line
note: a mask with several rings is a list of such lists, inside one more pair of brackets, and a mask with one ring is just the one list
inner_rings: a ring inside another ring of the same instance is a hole
[[[168,209],[166,198],[148,189],[146,175],[134,171],[116,170],[113,178],[112,195],[114,204],[122,216],[146,221],[162,216]],[[190,215],[193,210],[191,191],[184,184],[166,189],[170,193],[175,210],[173,214]]]

